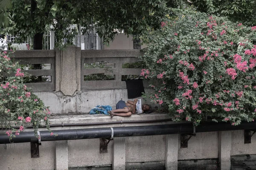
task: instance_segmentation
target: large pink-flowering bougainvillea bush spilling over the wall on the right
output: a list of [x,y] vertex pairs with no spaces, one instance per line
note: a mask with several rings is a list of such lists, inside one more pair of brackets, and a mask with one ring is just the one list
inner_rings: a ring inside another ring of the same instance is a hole
[[[171,16],[171,15],[170,15]],[[256,26],[224,17],[172,9],[144,42],[153,102],[168,108],[174,121],[194,125],[210,116],[238,125],[256,113]]]

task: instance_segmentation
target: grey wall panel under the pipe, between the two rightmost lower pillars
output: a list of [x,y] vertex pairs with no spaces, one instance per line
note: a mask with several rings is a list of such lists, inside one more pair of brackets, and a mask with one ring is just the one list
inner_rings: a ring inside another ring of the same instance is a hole
[[178,160],[218,158],[218,132],[196,133],[188,141],[187,148],[180,148]]

